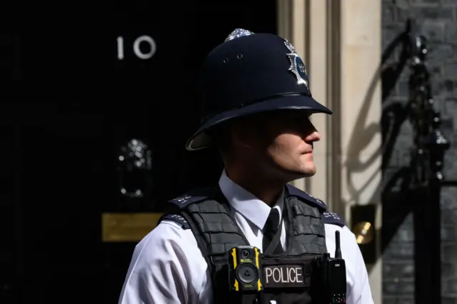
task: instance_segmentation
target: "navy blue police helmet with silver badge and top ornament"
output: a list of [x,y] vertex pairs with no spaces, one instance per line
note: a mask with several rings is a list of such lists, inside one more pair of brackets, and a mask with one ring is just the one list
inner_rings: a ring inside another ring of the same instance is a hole
[[189,151],[211,146],[207,132],[236,117],[276,110],[331,114],[311,95],[292,44],[274,34],[236,29],[206,56],[200,80],[203,117]]

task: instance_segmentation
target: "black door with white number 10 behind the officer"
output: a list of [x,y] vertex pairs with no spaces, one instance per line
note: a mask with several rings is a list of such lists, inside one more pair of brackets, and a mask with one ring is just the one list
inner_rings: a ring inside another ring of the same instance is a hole
[[[1,303],[116,303],[136,243],[102,242],[101,213],[159,212],[218,178],[214,151],[184,149],[199,123],[196,75],[236,27],[276,32],[276,1],[202,2],[11,13],[29,26],[0,44]],[[155,54],[140,59],[148,37]],[[151,163],[129,180],[117,169],[134,138]],[[149,192],[123,195],[132,181]]]

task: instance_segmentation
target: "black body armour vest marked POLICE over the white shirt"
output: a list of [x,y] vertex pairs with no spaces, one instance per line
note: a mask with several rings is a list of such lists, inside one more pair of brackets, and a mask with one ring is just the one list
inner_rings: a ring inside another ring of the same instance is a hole
[[[251,294],[233,291],[232,248],[249,245],[238,227],[229,203],[219,188],[202,188],[170,201],[171,211],[159,220],[191,229],[211,272],[215,304],[311,304],[319,303],[313,290],[314,260],[327,253],[324,223],[344,226],[326,205],[308,193],[286,186],[283,221],[287,248],[283,253],[259,253],[260,283]],[[279,231],[281,233],[281,230]],[[261,287],[261,288],[260,288]]]

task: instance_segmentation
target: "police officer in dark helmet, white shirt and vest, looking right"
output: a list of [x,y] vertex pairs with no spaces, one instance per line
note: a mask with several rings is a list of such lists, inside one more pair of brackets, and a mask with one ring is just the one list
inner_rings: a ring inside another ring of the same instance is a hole
[[216,145],[224,171],[219,183],[169,201],[170,212],[134,250],[119,303],[236,303],[228,261],[243,245],[261,252],[263,277],[254,298],[236,299],[324,303],[318,299],[328,288],[314,279],[313,261],[332,258],[336,238],[346,263],[339,281],[346,295],[336,303],[373,303],[351,230],[318,198],[288,185],[316,173],[313,143],[321,136],[309,117],[331,114],[311,96],[293,46],[236,29],[206,57],[201,98],[204,117],[186,148]]

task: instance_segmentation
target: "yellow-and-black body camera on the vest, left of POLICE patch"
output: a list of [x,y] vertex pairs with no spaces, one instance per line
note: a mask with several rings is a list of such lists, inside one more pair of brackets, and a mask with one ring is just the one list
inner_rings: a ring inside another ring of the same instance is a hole
[[260,250],[253,246],[237,246],[229,254],[231,290],[241,293],[263,290],[258,263]]

